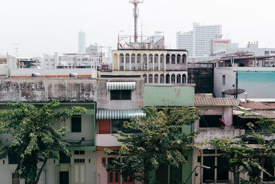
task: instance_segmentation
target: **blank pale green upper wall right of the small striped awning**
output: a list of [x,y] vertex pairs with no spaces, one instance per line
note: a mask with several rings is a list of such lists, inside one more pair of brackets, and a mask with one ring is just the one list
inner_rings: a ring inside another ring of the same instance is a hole
[[144,106],[190,106],[194,105],[194,86],[145,85]]

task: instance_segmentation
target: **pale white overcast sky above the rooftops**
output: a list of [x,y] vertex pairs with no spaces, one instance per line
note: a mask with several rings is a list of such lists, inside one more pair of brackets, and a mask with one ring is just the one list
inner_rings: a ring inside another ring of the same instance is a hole
[[[275,48],[274,6],[274,0],[144,0],[138,33],[162,31],[165,44],[176,48],[176,33],[192,30],[193,22],[220,24],[223,39]],[[2,0],[0,25],[0,54],[16,56],[13,43],[19,43],[19,57],[77,52],[80,30],[87,45],[116,49],[120,30],[133,35],[133,5],[129,0]]]

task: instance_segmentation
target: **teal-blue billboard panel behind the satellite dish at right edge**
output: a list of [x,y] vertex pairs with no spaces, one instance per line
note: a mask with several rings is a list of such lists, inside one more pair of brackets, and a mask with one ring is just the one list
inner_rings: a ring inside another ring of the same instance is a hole
[[[248,93],[248,98],[275,99],[275,72],[238,72],[238,88]],[[244,98],[244,93],[238,98]]]

